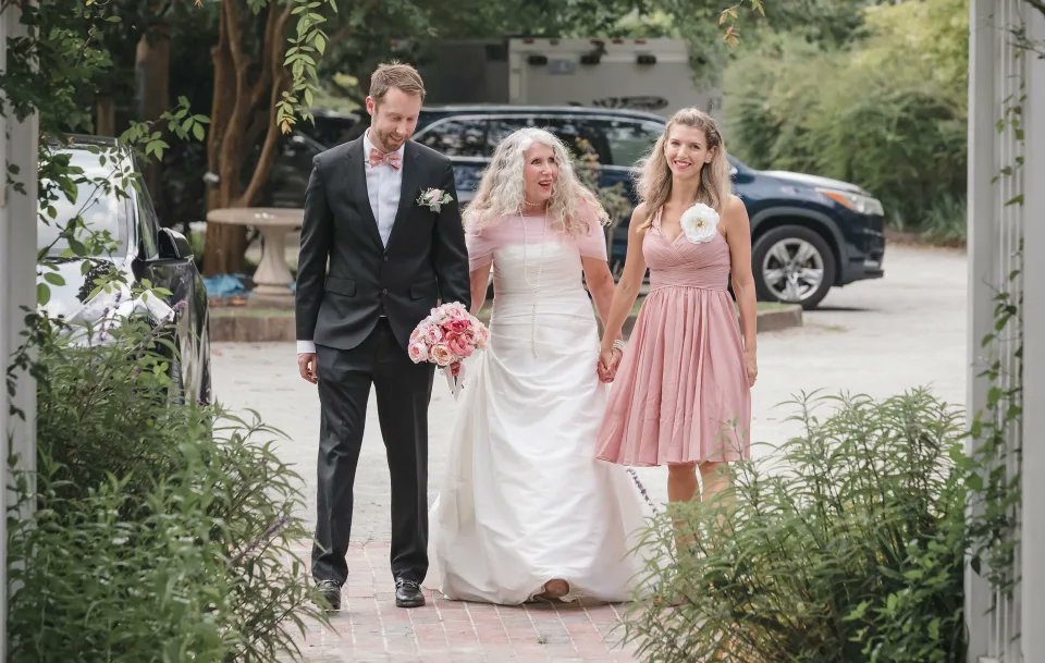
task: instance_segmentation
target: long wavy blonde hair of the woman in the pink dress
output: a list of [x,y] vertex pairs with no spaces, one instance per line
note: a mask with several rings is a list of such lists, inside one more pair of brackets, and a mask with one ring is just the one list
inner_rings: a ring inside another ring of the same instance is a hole
[[714,118],[696,108],[684,108],[672,115],[664,126],[664,133],[656,139],[650,154],[639,163],[639,173],[636,177],[636,188],[639,199],[646,204],[649,217],[639,226],[644,231],[653,224],[653,216],[672,195],[672,169],[667,165],[664,156],[664,145],[675,126],[690,126],[704,132],[708,148],[715,150],[711,163],[704,163],[700,169],[700,187],[697,189],[697,199],[693,204],[703,202],[720,214],[729,199],[732,191],[729,182],[729,160],[726,155],[726,144],[718,133],[718,125]]

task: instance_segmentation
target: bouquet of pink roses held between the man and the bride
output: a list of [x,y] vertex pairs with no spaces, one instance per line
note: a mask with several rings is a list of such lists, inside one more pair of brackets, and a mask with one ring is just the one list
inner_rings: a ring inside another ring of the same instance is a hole
[[487,346],[490,331],[457,302],[432,309],[410,334],[408,352],[414,364],[431,361],[445,369],[450,389],[457,397],[462,361]]

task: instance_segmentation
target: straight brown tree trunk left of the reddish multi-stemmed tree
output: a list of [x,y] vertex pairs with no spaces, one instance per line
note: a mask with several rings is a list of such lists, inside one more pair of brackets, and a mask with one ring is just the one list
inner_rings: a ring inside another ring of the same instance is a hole
[[[137,97],[138,118],[145,121],[156,121],[170,108],[170,73],[171,73],[171,37],[170,28],[164,24],[152,26],[138,39],[135,57],[135,87]],[[145,164],[145,184],[152,192],[160,212],[163,225],[170,225],[175,219],[165,213],[170,204],[162,196],[160,186],[163,174],[163,164],[148,161]]]

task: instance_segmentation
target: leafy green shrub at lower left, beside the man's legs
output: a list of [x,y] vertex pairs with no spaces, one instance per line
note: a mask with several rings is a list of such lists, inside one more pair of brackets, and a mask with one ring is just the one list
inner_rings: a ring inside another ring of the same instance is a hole
[[15,365],[39,385],[39,471],[20,476],[8,514],[8,660],[293,655],[295,631],[323,617],[291,550],[308,535],[276,433],[171,404],[162,329],[32,329]]

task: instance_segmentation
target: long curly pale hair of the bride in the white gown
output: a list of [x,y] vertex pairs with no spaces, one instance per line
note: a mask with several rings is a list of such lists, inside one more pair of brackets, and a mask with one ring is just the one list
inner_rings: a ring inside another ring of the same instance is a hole
[[524,179],[526,150],[534,144],[552,148],[558,163],[558,179],[548,201],[548,223],[552,230],[570,235],[589,231],[586,207],[594,210],[599,223],[606,223],[608,214],[599,199],[577,179],[569,150],[563,142],[542,128],[520,128],[497,145],[490,165],[482,173],[476,197],[465,211],[465,228],[479,232],[505,217],[524,211]]

